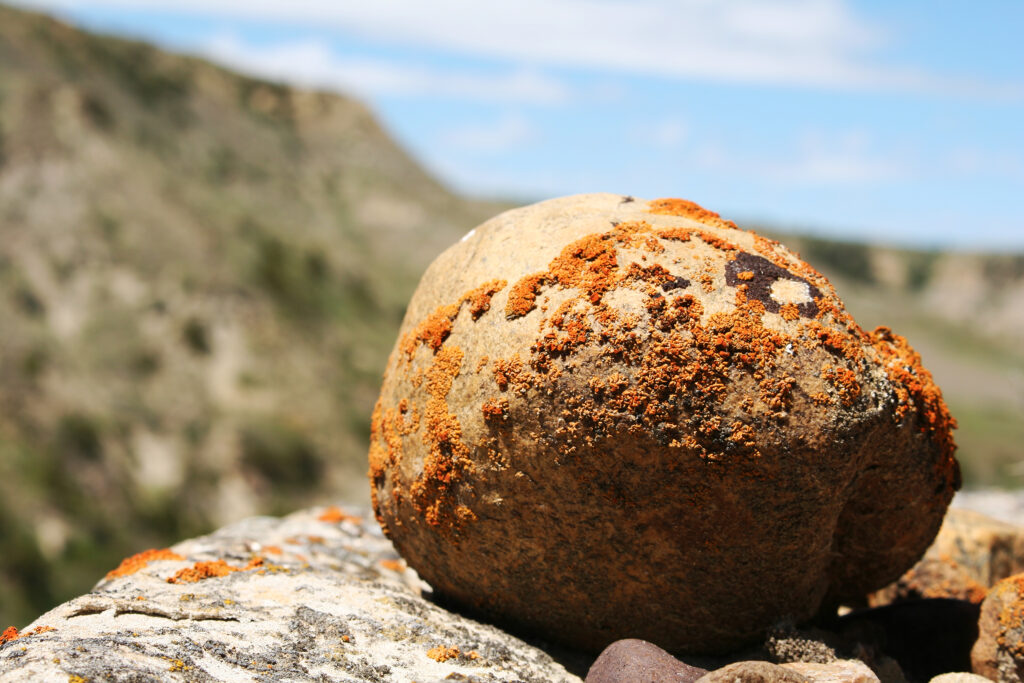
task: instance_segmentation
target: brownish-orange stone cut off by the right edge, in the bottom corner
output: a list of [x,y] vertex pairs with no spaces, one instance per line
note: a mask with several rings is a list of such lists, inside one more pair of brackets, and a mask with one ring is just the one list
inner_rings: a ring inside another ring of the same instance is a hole
[[1004,579],[981,604],[971,670],[999,683],[1024,681],[1024,573]]

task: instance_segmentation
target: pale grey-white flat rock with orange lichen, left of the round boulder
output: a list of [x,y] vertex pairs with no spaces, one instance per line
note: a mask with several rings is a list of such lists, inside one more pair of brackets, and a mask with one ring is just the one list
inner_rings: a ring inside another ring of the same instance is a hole
[[0,681],[580,680],[421,586],[372,521],[252,518],[129,558],[0,645]]

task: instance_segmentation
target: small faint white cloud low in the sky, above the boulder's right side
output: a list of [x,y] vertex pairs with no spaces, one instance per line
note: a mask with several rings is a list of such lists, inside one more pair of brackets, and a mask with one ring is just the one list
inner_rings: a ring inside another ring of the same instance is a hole
[[737,155],[709,144],[700,148],[695,161],[710,171],[788,186],[876,184],[916,175],[901,155],[871,150],[870,140],[860,131],[833,137],[807,132],[791,154],[777,159]]

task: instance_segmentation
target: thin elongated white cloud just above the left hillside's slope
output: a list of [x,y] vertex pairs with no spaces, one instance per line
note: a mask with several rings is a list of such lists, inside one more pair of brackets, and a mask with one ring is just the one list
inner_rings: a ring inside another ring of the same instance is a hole
[[364,96],[437,95],[544,104],[569,98],[569,91],[562,83],[531,70],[494,76],[383,59],[340,57],[330,45],[318,40],[265,47],[244,43],[234,36],[219,36],[199,49],[215,61],[250,74]]

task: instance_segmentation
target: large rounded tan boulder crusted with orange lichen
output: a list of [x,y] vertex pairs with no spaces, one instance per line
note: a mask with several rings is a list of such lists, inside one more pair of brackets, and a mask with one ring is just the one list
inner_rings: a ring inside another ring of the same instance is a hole
[[373,418],[378,518],[458,604],[598,651],[711,652],[895,580],[952,420],[777,243],[680,200],[552,200],[428,269]]

